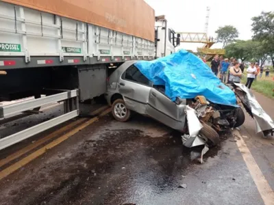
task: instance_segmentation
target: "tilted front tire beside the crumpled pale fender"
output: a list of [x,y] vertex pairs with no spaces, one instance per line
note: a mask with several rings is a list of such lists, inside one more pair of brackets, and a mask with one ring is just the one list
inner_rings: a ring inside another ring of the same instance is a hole
[[203,128],[201,128],[199,134],[206,140],[209,147],[216,146],[220,141],[219,134],[208,124],[204,122],[201,122],[201,124],[203,124]]

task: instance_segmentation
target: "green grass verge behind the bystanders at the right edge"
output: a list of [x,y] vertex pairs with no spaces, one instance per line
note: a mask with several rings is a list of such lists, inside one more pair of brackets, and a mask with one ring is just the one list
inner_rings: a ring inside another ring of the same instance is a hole
[[[247,73],[245,70],[245,76],[242,78],[242,83],[247,82]],[[253,81],[251,88],[252,90],[256,90],[257,92],[260,92],[264,96],[267,96],[269,98],[274,98],[274,73],[270,72],[269,77],[265,77],[265,71],[262,74],[262,78],[260,78],[260,74],[258,74],[258,78],[256,81]]]

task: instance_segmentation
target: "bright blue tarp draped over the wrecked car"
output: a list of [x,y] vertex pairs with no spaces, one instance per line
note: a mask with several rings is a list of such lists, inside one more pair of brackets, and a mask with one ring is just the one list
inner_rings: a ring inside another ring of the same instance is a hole
[[236,96],[213,74],[199,57],[180,50],[153,61],[134,64],[154,85],[164,85],[166,96],[179,98],[205,96],[211,102],[237,107]]

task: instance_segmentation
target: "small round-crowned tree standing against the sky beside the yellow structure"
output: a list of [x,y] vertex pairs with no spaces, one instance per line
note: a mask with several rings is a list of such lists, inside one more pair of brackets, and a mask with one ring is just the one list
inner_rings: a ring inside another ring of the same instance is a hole
[[218,30],[215,31],[217,33],[216,41],[223,43],[223,48],[234,42],[236,38],[238,38],[239,32],[232,25],[225,25],[224,27],[219,27]]

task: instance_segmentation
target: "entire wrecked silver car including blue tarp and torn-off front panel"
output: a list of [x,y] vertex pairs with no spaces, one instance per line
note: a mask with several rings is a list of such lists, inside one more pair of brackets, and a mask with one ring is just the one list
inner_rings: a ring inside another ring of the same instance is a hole
[[[241,126],[245,113],[256,131],[273,134],[274,122],[245,85],[224,85],[199,57],[180,50],[153,61],[127,61],[108,79],[105,94],[116,120],[132,111],[183,133],[184,146],[215,146],[218,131]],[[203,150],[205,153],[206,150]]]

